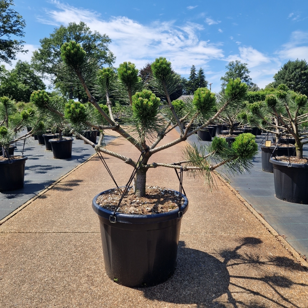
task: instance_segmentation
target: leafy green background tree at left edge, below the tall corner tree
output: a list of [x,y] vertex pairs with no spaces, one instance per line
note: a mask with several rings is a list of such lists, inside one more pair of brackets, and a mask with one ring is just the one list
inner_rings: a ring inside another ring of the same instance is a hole
[[16,101],[29,102],[35,90],[46,88],[43,80],[35,75],[27,62],[18,61],[11,71],[0,69],[0,95],[9,95]]

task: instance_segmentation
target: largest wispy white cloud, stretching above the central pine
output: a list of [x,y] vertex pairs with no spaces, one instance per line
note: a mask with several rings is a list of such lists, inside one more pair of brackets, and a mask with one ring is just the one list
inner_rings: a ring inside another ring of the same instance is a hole
[[84,21],[91,30],[106,33],[112,40],[110,50],[116,55],[117,66],[123,61],[132,61],[138,68],[165,56],[174,70],[187,74],[192,64],[204,66],[211,59],[223,59],[219,44],[200,40],[198,32],[203,26],[187,22],[178,27],[170,22],[154,22],[145,26],[127,17],[111,17],[103,20],[96,12],[53,2],[56,10],[48,11],[50,22],[67,25]]

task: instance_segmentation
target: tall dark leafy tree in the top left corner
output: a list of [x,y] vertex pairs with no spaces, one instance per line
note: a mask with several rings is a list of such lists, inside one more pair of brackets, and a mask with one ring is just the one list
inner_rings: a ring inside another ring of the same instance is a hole
[[23,28],[25,20],[16,11],[10,8],[14,5],[13,0],[0,0],[0,60],[11,64],[16,59],[16,53],[27,52],[24,50],[24,41],[11,39],[25,36]]

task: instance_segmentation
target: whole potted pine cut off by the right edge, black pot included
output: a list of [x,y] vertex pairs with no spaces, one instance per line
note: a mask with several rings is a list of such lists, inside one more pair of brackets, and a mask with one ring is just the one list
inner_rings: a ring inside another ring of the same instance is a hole
[[303,145],[308,143],[307,96],[290,91],[286,85],[279,85],[278,91],[266,95],[265,103],[278,119],[278,124],[268,123],[273,128],[286,132],[295,139],[296,156],[275,156],[270,162],[274,167],[275,195],[277,198],[308,204],[308,164],[303,156]]

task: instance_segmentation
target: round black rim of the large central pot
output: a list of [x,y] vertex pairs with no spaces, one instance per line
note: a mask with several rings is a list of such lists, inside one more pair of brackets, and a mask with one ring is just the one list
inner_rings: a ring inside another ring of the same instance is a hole
[[[124,187],[125,186],[122,186],[122,188]],[[113,211],[104,209],[103,207],[101,207],[100,205],[96,203],[96,200],[99,196],[101,196],[105,192],[108,192],[109,190],[110,189],[104,190],[103,192],[96,195],[92,200],[92,209],[94,210],[94,212],[97,215],[107,220],[109,220],[110,216],[113,215]],[[179,193],[177,190],[174,190],[174,189],[168,189],[168,190]],[[181,205],[181,211],[184,214],[188,209],[188,199],[183,194],[182,194],[182,197],[184,197],[184,203]],[[115,217],[116,217],[117,222],[123,222],[123,223],[128,223],[128,224],[158,223],[158,222],[164,222],[164,221],[169,221],[175,218],[179,218],[179,208],[174,209],[169,212],[165,212],[165,213],[149,214],[149,215],[132,215],[132,214],[124,214],[124,213],[115,213]]]

